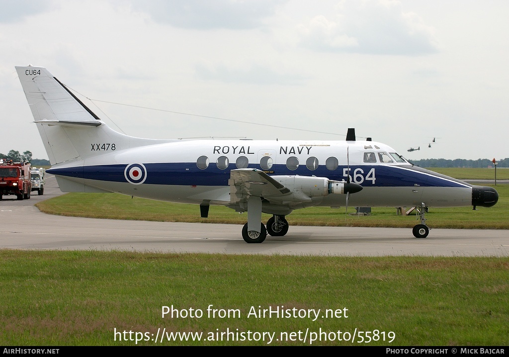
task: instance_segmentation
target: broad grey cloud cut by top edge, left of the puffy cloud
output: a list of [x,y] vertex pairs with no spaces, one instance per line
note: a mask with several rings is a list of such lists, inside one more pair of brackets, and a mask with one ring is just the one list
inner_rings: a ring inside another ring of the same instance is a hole
[[263,24],[281,1],[132,0],[133,9],[160,23],[185,29],[252,29]]

